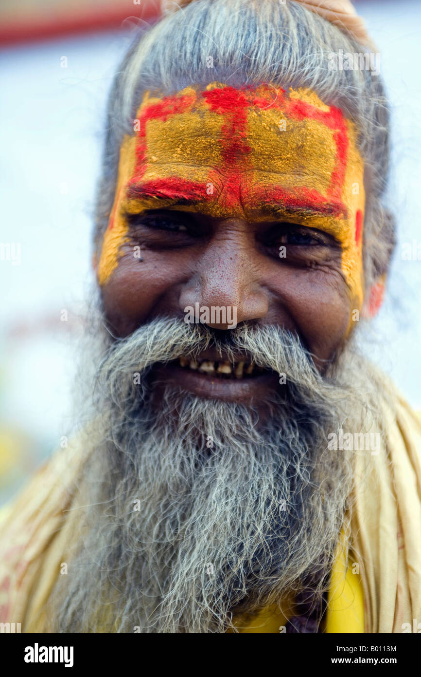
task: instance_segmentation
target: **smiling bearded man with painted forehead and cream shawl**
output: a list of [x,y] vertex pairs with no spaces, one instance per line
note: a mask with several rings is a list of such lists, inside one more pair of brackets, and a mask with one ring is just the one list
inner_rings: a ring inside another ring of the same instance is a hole
[[395,241],[370,41],[347,1],[184,4],[112,89],[95,380],[3,517],[1,620],[407,632],[421,427],[355,347]]

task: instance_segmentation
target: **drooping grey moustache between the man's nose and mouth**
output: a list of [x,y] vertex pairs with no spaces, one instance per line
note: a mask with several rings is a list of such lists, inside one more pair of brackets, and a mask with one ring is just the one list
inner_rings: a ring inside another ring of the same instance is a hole
[[[167,317],[155,318],[109,346],[97,372],[98,382],[107,383],[112,401],[118,403],[124,380],[126,394],[130,396],[134,374],[140,378],[140,385],[145,386],[154,364],[166,364],[182,356],[197,359],[209,347],[221,356],[224,353],[231,362],[236,361],[239,353],[246,353],[257,366],[282,375],[290,394],[299,389],[300,399],[309,403],[315,393],[320,403],[329,406],[332,398],[340,400],[342,395],[349,395],[349,390],[343,389],[341,393],[337,383],[318,372],[311,353],[303,347],[299,336],[289,330],[244,323],[218,335],[205,325]],[[136,387],[139,388],[139,380]]]

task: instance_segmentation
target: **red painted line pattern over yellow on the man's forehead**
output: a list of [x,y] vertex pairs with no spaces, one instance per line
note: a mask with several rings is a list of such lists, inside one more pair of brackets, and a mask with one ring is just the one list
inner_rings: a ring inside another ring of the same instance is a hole
[[[209,109],[222,115],[224,118],[221,127],[222,138],[220,139],[220,144],[224,162],[222,171],[226,177],[226,183],[224,184],[223,195],[211,197],[218,199],[220,206],[226,209],[238,206],[239,203],[244,203],[247,197],[251,197],[249,190],[244,185],[241,186],[241,175],[247,167],[250,168],[248,157],[250,148],[247,144],[247,108],[250,106],[257,106],[257,108],[261,109],[272,107],[281,110],[287,117],[295,120],[314,120],[334,131],[333,138],[336,144],[335,167],[330,176],[330,185],[326,196],[320,195],[315,190],[297,187],[293,189],[296,198],[292,199],[296,200],[297,206],[302,206],[303,208],[305,208],[306,204],[308,206],[308,201],[310,200],[312,204],[319,206],[322,213],[338,216],[345,215],[346,208],[341,202],[341,192],[345,179],[349,139],[345,118],[341,110],[335,108],[335,106],[330,106],[327,111],[320,110],[308,102],[289,97],[284,89],[279,88],[276,92],[277,95],[274,98],[273,87],[260,85],[259,93],[256,93],[255,87],[247,85],[240,89],[228,86],[215,87],[214,89],[199,93],[207,103],[207,106],[209,106]],[[141,124],[140,131],[137,132],[137,160],[132,179],[130,180],[130,194],[132,194],[134,186],[140,182],[146,169],[145,133],[147,121],[151,119],[166,121],[173,115],[188,112],[194,108],[197,98],[198,95],[195,92],[185,95],[170,95],[163,97],[159,102],[147,104],[143,107],[139,118]],[[239,160],[241,160],[241,165]],[[251,167],[251,169],[253,168]],[[220,169],[218,171],[211,170],[207,177],[207,182],[218,185],[220,183],[220,171]],[[198,184],[195,181],[179,179],[178,177],[171,177],[171,179],[164,179],[164,181],[166,182],[166,191],[185,194],[187,200],[189,200],[189,195],[197,193]],[[159,186],[162,187],[162,185],[163,182],[159,181]],[[148,181],[145,189],[153,191],[159,188],[159,186],[154,186],[153,182]],[[205,187],[202,188],[202,194],[206,199],[209,198],[205,192]],[[256,197],[257,195],[254,191],[254,200]],[[279,200],[280,203],[284,201],[285,194],[281,187],[274,187],[273,197]],[[265,198],[267,198],[266,190],[261,195],[263,201]],[[291,204],[291,193],[289,194],[289,203]]]

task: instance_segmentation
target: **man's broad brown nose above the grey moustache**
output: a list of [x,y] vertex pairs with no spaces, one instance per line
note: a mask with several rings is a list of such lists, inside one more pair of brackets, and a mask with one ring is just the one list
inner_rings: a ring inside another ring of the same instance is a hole
[[207,244],[180,293],[182,312],[193,307],[195,316],[199,311],[203,318],[200,322],[222,330],[246,320],[260,320],[268,313],[261,274],[247,223],[227,219]]

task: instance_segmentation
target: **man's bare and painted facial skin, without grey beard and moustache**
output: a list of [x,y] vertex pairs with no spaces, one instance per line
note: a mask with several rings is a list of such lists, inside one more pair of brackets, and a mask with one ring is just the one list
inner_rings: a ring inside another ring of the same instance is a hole
[[[127,336],[197,303],[224,307],[237,324],[297,333],[322,368],[363,300],[364,166],[352,123],[309,90],[212,83],[145,94],[134,129],[97,271],[112,330]],[[212,314],[207,324],[228,329]],[[273,392],[277,375],[247,374],[247,355],[233,367],[223,357],[208,349],[159,381],[245,403]]]

